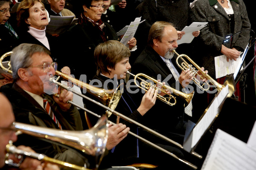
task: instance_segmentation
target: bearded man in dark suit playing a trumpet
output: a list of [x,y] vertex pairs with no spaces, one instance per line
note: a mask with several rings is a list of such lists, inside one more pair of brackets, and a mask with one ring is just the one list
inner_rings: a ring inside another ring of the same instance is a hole
[[[177,56],[172,51],[178,46],[177,40],[177,30],[172,23],[155,22],[149,31],[147,47],[137,57],[131,71],[134,74],[144,73],[154,79],[160,79],[161,82],[166,82],[166,85],[183,93],[194,91],[195,88],[189,85],[193,73],[189,70],[181,71],[175,64]],[[138,96],[141,96],[140,94],[138,93]],[[176,99],[174,106],[157,100],[151,110],[143,116],[143,124],[182,144],[186,129],[184,118],[191,118],[192,103],[184,109],[184,101],[180,97]]]

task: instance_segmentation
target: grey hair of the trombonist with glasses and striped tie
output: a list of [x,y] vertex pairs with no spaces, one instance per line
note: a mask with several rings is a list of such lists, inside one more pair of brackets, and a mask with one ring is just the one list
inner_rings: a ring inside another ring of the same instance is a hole
[[11,54],[12,77],[16,81],[19,68],[28,68],[32,64],[32,55],[35,53],[49,54],[50,51],[41,45],[23,43],[13,48]]

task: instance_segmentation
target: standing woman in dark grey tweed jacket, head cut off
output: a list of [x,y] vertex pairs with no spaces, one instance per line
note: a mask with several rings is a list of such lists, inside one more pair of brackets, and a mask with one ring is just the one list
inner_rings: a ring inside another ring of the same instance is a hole
[[[215,78],[214,57],[225,55],[227,61],[236,60],[240,52],[244,51],[250,38],[250,21],[247,16],[246,6],[242,0],[198,0],[192,8],[197,22],[208,22],[201,30],[198,40],[198,61]],[[234,34],[230,41],[224,42],[227,34]],[[225,77],[217,79],[223,84]],[[236,85],[236,96],[241,96],[239,83]],[[241,100],[241,97],[239,97]]]

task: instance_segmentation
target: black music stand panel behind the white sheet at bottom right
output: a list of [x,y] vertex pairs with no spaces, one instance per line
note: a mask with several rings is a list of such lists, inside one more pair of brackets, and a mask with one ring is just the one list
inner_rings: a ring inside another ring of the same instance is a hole
[[218,117],[195,149],[196,152],[203,156],[201,164],[198,165],[198,169],[200,169],[204,162],[207,151],[218,128],[243,142],[247,142],[256,121],[255,113],[256,107],[244,104],[235,99],[227,98],[222,105]]

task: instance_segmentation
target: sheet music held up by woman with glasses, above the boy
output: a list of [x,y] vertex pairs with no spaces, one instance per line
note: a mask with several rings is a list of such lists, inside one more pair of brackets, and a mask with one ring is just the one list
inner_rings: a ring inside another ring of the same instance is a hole
[[126,47],[129,47],[127,42],[130,41],[131,38],[134,37],[134,34],[136,33],[137,28],[138,28],[138,26],[140,24],[140,20],[141,20],[141,17],[135,18],[135,20],[130,23],[127,31],[125,32],[125,35],[122,37],[122,40],[120,42],[123,45],[125,45]]

